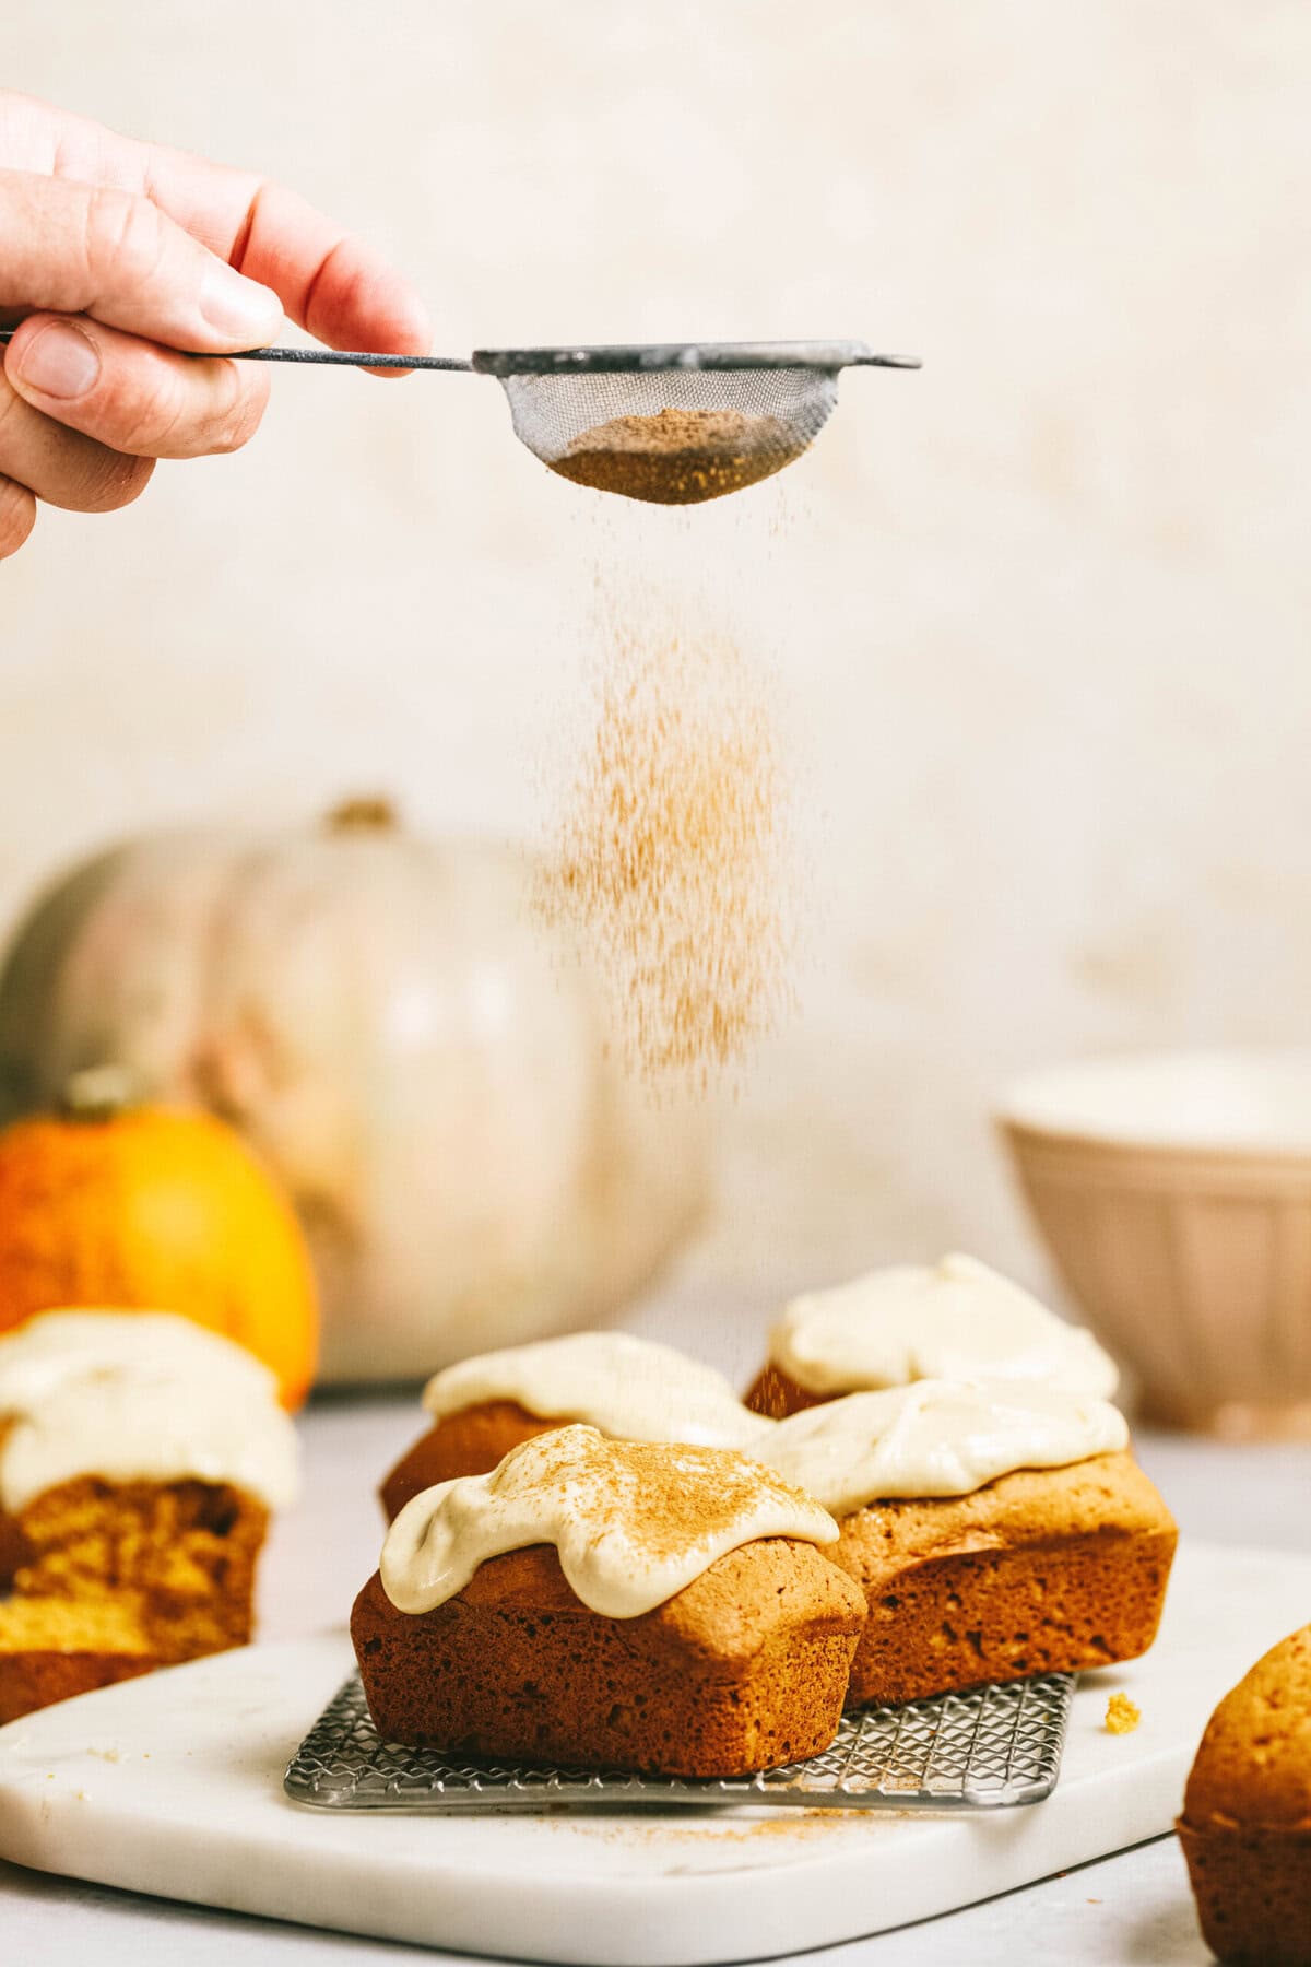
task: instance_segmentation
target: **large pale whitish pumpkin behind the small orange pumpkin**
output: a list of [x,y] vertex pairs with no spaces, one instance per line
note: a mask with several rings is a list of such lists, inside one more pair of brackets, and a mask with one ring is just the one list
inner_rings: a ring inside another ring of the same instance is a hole
[[116,848],[18,928],[0,1119],[116,1062],[234,1121],[307,1227],[326,1381],[603,1322],[698,1222],[704,1123],[625,1078],[529,883],[373,806]]

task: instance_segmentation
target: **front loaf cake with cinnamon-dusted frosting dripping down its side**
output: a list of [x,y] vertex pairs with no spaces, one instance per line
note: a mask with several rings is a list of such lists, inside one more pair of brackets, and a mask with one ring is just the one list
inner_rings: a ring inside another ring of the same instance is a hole
[[413,1497],[352,1639],[389,1741],[741,1776],[833,1741],[865,1623],[837,1524],[729,1450],[568,1426]]

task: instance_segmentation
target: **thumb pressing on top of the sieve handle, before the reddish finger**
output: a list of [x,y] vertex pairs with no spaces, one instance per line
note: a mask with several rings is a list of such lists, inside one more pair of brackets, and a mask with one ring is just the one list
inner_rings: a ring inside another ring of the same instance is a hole
[[0,309],[92,315],[171,348],[228,354],[275,340],[283,307],[149,199],[0,171]]

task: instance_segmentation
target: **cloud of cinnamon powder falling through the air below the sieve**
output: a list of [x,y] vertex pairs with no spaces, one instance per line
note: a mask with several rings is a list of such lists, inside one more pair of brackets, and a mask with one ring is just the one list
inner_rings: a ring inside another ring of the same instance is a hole
[[588,944],[635,1074],[704,1084],[786,1007],[788,795],[767,679],[727,639],[613,627],[539,907]]

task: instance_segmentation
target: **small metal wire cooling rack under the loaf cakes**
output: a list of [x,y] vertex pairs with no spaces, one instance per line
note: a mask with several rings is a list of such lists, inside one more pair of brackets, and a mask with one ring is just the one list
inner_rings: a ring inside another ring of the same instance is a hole
[[824,1755],[759,1776],[635,1776],[405,1749],[373,1727],[352,1674],[309,1731],[285,1776],[318,1810],[541,1810],[627,1804],[851,1810],[997,1810],[1055,1788],[1073,1674],[845,1715]]

